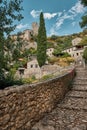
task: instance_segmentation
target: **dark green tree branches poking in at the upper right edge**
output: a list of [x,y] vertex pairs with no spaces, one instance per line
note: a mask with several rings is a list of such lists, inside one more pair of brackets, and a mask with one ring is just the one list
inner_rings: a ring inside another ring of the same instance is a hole
[[[87,6],[87,0],[81,0],[81,3],[85,6]],[[81,28],[86,27],[87,28],[87,12],[85,12],[84,16],[82,16],[82,21],[80,22]]]

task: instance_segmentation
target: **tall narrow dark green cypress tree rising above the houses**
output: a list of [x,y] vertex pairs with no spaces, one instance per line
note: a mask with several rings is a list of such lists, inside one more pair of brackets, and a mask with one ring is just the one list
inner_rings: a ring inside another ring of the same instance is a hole
[[38,40],[37,40],[37,61],[40,67],[43,66],[46,62],[46,49],[47,49],[46,29],[43,13],[41,12],[40,26],[38,30]]

